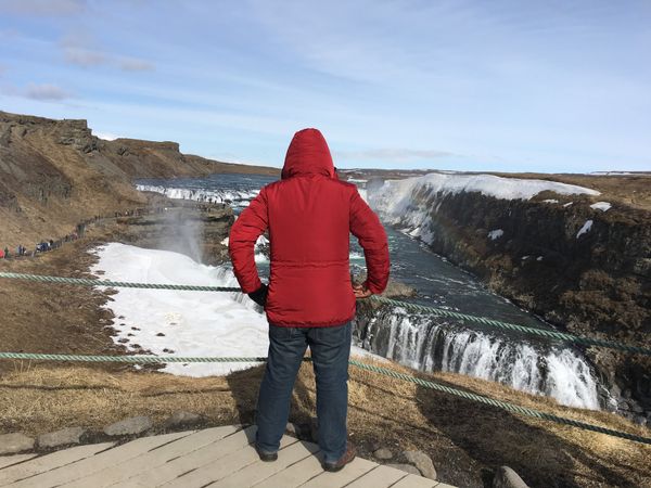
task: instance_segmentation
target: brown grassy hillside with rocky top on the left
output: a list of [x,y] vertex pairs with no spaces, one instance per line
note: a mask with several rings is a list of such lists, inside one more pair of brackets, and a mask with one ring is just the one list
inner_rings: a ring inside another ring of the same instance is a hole
[[0,246],[33,248],[87,218],[145,206],[151,197],[135,190],[133,179],[219,172],[279,169],[182,154],[176,142],[105,141],[86,120],[0,112]]

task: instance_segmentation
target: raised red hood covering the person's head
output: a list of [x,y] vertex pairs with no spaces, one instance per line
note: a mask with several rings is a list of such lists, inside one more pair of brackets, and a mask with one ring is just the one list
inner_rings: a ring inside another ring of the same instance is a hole
[[296,175],[324,175],[336,178],[330,149],[323,134],[317,129],[299,130],[288,147],[281,179]]

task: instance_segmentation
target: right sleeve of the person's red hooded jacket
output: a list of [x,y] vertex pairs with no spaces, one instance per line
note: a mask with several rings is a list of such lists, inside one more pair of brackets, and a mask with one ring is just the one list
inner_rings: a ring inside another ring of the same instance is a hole
[[363,248],[367,287],[380,294],[388,282],[388,243],[380,219],[361,198],[357,189],[350,200],[350,232]]

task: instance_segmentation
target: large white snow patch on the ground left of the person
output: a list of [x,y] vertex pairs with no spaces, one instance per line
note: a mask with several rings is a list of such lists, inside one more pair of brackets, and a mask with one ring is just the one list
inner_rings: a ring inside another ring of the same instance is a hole
[[[200,265],[168,251],[111,243],[94,249],[91,271],[127,282],[238,286],[228,267]],[[128,339],[157,356],[267,356],[267,319],[241,293],[117,288],[106,308],[115,314],[114,341]],[[132,335],[128,335],[132,334]],[[168,354],[164,349],[171,349]],[[353,354],[369,352],[354,347]],[[222,375],[255,363],[169,363],[166,372],[187,376]]]

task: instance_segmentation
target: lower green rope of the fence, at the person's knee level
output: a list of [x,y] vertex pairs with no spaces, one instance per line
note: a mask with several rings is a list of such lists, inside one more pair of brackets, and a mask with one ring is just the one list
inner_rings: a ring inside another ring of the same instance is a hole
[[[49,355],[49,354],[36,354],[36,352],[0,352],[0,359],[20,359],[20,360],[48,360],[48,361],[80,361],[80,362],[126,362],[136,364],[151,364],[151,363],[163,363],[163,362],[264,362],[267,358],[264,357],[176,357],[176,356],[85,356],[85,355]],[[310,358],[304,358],[304,361],[310,361]],[[484,403],[490,407],[495,407],[511,413],[520,415],[531,416],[534,419],[540,419],[546,421],[556,422],[558,424],[570,425],[573,427],[582,428],[585,431],[591,431],[599,434],[605,434],[613,437],[620,437],[622,439],[633,440],[636,442],[651,445],[651,438],[644,436],[638,436],[622,431],[615,431],[612,428],[602,427],[600,425],[589,424],[587,422],[580,422],[573,419],[567,419],[559,415],[554,415],[539,410],[528,409],[520,407],[508,401],[497,400],[495,398],[485,397],[483,395],[476,395],[462,389],[454,388],[451,386],[442,385],[441,383],[422,380],[409,374],[399,373],[397,371],[390,370],[387,368],[381,368],[373,364],[367,364],[360,361],[350,360],[350,365],[359,368],[361,370],[370,371],[372,373],[382,374],[395,380],[400,380],[409,383],[413,383],[423,388],[434,389],[437,391],[454,395],[470,401]]]

